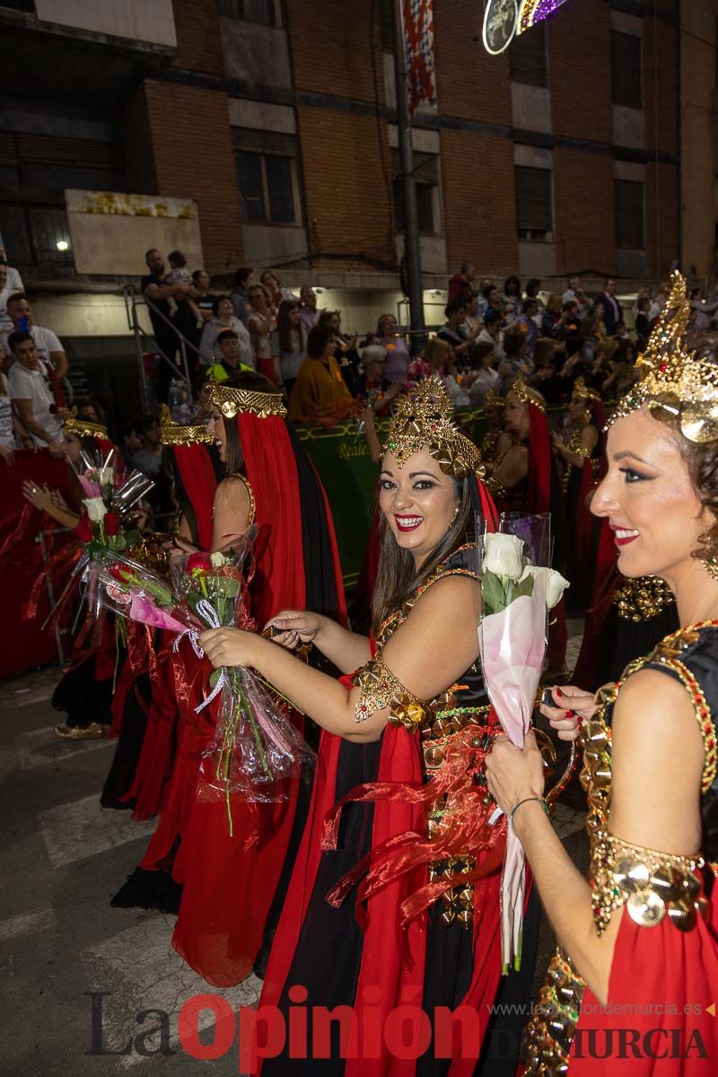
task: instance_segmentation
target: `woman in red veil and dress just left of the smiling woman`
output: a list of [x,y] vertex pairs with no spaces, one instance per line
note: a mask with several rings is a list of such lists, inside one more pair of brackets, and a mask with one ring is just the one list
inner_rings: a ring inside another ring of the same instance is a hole
[[[262,626],[286,605],[311,605],[343,621],[328,504],[285,421],[281,394],[258,374],[237,374],[211,387],[210,406],[210,432],[226,470],[214,496],[211,549],[255,531],[244,616]],[[294,781],[288,798],[276,803],[233,801],[230,837],[226,803],[207,799],[200,768],[220,705],[217,700],[195,713],[211,672],[206,660],[200,667],[201,676],[181,702],[177,755],[157,830],[141,868],[113,904],[143,904],[147,872],[166,880],[170,866],[172,881],[183,887],[173,946],[209,982],[228,987],[251,971],[262,947],[295,813],[301,823],[299,786]],[[301,725],[299,715],[295,719]]]

